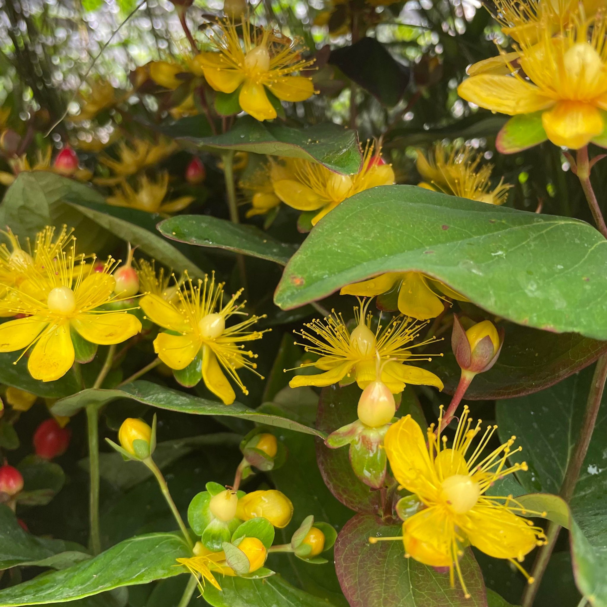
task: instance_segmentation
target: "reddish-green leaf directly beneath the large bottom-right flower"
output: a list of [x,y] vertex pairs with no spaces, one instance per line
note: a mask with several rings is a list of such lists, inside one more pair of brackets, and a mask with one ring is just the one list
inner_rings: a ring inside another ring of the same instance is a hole
[[[368,538],[402,534],[401,525],[385,525],[368,514],[357,514],[335,544],[335,569],[350,607],[486,607],[480,568],[470,550],[459,561],[470,598],[449,572],[438,573],[413,558],[404,558],[402,541],[368,543]],[[389,572],[389,575],[386,574]]]

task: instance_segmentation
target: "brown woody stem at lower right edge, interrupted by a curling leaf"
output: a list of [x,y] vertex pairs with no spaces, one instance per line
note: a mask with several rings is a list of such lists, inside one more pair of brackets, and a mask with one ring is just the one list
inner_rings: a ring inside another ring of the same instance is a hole
[[[590,392],[588,393],[588,400],[586,401],[586,411],[584,413],[584,419],[582,420],[580,435],[577,438],[577,443],[575,443],[572,456],[569,458],[565,476],[563,476],[560,496],[567,503],[569,503],[573,496],[575,484],[577,483],[582,464],[584,463],[586,453],[588,452],[592,431],[594,430],[594,425],[597,421],[597,415],[599,415],[606,380],[607,354],[603,354],[597,361],[597,366],[594,368],[594,375],[592,376],[592,384],[590,386]],[[531,607],[531,605],[533,605],[535,595],[540,587],[541,578],[543,577],[544,572],[546,572],[552,551],[557,542],[559,531],[560,526],[558,526],[558,524],[549,524],[548,532],[546,533],[546,544],[540,549],[531,572],[532,577],[535,578],[535,583],[530,584],[525,588],[521,603],[522,607]]]

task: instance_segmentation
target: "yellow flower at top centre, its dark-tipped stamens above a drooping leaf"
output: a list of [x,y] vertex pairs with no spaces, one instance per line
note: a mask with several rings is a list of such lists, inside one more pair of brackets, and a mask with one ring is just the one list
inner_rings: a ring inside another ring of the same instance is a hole
[[194,62],[200,64],[213,89],[233,93],[242,86],[240,107],[253,118],[276,118],[266,89],[282,101],[305,101],[313,95],[311,79],[293,73],[314,62],[302,59],[293,40],[277,30],[258,28],[245,18],[238,25],[226,19],[220,22],[219,33],[213,32],[209,39],[219,52],[200,53]]

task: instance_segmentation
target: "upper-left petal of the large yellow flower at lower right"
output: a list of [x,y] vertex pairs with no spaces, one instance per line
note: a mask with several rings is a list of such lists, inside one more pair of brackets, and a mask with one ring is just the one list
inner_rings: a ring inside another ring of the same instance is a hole
[[424,495],[426,483],[435,481],[436,472],[426,447],[426,436],[410,415],[388,428],[384,439],[385,453],[396,480],[405,489]]

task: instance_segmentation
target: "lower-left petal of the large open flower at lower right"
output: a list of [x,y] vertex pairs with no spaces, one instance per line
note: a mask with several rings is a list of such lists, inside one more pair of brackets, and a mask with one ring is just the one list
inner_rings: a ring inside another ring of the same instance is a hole
[[445,509],[426,508],[402,523],[405,552],[424,565],[449,567],[454,531]]

